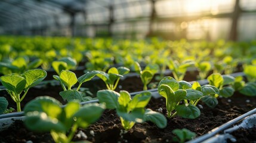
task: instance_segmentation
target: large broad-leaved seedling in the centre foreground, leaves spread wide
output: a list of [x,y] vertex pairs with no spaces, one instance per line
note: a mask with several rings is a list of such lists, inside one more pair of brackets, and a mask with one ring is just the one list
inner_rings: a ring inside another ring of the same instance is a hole
[[108,109],[115,109],[120,117],[122,126],[129,130],[135,123],[150,121],[159,128],[165,128],[167,120],[164,115],[151,109],[144,109],[150,101],[150,92],[143,92],[135,95],[131,100],[131,95],[127,91],[120,91],[120,94],[111,90],[101,90],[97,92],[97,98],[106,104]]

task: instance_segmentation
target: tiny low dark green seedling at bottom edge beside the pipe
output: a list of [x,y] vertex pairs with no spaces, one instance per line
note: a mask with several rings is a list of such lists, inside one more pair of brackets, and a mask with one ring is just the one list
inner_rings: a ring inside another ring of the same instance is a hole
[[172,130],[172,133],[174,135],[176,135],[175,138],[173,138],[174,142],[183,143],[185,141],[189,141],[196,137],[195,132],[191,132],[190,130],[185,129],[185,128],[184,129],[174,129],[174,130]]

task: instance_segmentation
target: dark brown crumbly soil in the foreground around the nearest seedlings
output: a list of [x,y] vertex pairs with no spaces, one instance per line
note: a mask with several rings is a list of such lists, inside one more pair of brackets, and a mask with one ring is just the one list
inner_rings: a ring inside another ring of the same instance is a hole
[[[84,132],[88,141],[92,142],[172,142],[174,135],[171,131],[174,129],[187,128],[201,136],[256,107],[255,97],[245,97],[238,93],[231,98],[219,98],[218,101],[219,104],[215,108],[209,108],[199,102],[203,108],[198,119],[182,119],[176,116],[168,119],[168,126],[165,129],[158,129],[152,123],[143,123],[135,125],[127,133],[121,133],[123,131],[121,122],[115,111],[106,110],[97,123],[88,129],[79,129],[78,132]],[[152,98],[147,108],[155,111],[162,108],[162,113],[165,114],[165,100]],[[255,129],[238,130],[232,134],[236,136],[238,142],[255,142],[255,131]],[[50,133],[30,132],[22,122],[16,122],[10,129],[0,132],[0,136],[0,142],[53,142]],[[76,135],[73,140],[81,139],[81,135]]]

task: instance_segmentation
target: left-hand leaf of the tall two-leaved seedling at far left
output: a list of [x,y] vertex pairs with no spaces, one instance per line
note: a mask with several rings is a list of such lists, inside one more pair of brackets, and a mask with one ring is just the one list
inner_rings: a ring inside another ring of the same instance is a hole
[[13,91],[16,95],[20,94],[26,86],[24,77],[16,76],[14,74],[1,76],[2,85],[9,91]]

